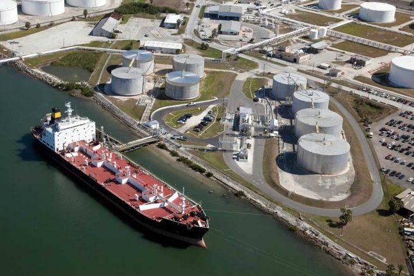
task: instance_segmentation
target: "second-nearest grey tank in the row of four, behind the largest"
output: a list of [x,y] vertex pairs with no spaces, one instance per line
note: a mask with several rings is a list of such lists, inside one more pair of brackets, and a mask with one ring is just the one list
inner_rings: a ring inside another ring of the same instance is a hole
[[302,137],[308,133],[325,133],[342,137],[341,115],[327,109],[305,108],[296,112],[295,135]]

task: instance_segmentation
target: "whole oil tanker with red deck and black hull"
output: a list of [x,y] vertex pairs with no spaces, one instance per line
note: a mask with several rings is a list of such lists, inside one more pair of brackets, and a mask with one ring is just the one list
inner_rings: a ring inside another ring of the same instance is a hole
[[31,128],[52,159],[152,232],[206,247],[209,218],[199,204],[111,150],[97,139],[95,121],[66,108],[65,118],[55,107]]

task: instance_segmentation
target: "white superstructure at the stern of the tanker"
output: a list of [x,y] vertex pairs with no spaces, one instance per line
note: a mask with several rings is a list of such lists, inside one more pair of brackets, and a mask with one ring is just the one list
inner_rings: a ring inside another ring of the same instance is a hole
[[95,121],[91,121],[86,117],[75,115],[72,117],[72,108],[70,102],[66,103],[66,118],[57,118],[50,123],[50,119],[45,121],[43,132],[39,141],[51,150],[63,150],[70,143],[76,141],[91,142],[96,139]]

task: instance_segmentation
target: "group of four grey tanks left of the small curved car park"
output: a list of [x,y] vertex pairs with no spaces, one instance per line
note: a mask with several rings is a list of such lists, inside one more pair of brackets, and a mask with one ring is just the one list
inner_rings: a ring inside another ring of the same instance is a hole
[[[146,50],[130,50],[122,54],[122,67],[112,70],[111,89],[118,95],[144,92],[145,77],[154,72],[154,57]],[[199,81],[204,76],[204,58],[181,54],[172,59],[172,72],[166,77],[166,95],[188,100],[199,96]]]

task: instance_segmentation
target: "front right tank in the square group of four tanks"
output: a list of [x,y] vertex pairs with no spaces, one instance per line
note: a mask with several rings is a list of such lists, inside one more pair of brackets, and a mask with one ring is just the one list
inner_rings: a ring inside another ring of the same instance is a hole
[[193,72],[170,72],[166,76],[166,95],[172,99],[194,99],[200,95],[199,82],[199,75]]

